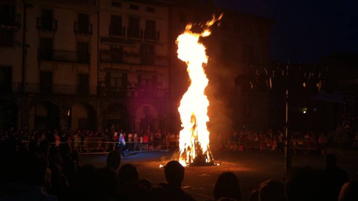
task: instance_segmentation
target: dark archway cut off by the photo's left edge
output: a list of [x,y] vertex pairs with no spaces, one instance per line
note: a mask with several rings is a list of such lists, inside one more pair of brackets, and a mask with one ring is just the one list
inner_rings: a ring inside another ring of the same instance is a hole
[[17,128],[18,107],[15,103],[0,100],[0,129]]

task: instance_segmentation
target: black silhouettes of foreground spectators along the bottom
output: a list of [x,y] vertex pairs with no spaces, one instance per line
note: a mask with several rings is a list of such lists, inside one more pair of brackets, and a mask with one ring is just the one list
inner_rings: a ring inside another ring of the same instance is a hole
[[[67,143],[46,139],[26,146],[14,135],[0,141],[1,201],[194,201],[182,189],[185,168],[178,161],[164,166],[166,181],[151,183],[139,178],[133,164],[121,165],[118,151],[110,151],[106,166],[80,165],[76,150]],[[158,169],[159,170],[159,169]],[[240,178],[240,177],[239,177]],[[212,201],[243,201],[233,172],[222,173],[212,191]],[[297,167],[284,181],[268,180],[251,193],[250,201],[356,201],[358,183],[326,155],[326,168]]]

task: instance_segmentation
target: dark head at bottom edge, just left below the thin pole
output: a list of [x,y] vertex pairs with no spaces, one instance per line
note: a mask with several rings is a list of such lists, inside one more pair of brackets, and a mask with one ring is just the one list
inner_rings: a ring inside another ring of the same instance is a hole
[[281,182],[268,180],[261,184],[259,201],[284,201],[285,191]]

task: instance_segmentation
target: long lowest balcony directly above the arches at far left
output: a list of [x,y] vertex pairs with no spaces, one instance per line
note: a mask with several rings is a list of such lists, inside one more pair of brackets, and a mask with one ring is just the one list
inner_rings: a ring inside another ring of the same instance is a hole
[[[12,82],[9,85],[0,85],[0,93],[21,93],[22,84]],[[96,95],[96,86],[79,85],[41,85],[40,83],[25,83],[24,93],[27,94],[58,94],[58,95]]]

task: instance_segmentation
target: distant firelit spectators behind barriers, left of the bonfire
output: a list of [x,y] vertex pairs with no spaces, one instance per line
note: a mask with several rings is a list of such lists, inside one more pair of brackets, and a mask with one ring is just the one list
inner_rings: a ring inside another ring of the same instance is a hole
[[[39,130],[16,130],[9,128],[8,130],[0,130],[0,140],[5,140],[9,136],[24,142],[35,141],[40,143],[47,140],[50,144],[60,146],[60,144],[68,144],[70,149],[75,149],[79,153],[88,149],[91,151],[109,152],[115,149],[123,149],[128,151],[150,151],[160,149],[176,149],[178,147],[179,133],[170,131],[143,131],[126,132],[116,129],[112,126],[104,131],[80,130],[75,131],[57,129],[39,131]],[[90,143],[95,143],[94,147],[90,147]],[[94,150],[93,150],[94,149]]]

